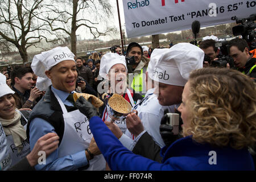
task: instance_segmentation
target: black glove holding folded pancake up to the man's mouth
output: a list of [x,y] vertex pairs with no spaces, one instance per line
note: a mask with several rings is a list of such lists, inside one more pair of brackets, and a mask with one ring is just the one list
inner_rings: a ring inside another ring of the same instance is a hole
[[96,108],[82,96],[80,96],[76,101],[76,107],[79,111],[86,115],[86,117],[90,120],[90,118],[94,116],[100,116]]

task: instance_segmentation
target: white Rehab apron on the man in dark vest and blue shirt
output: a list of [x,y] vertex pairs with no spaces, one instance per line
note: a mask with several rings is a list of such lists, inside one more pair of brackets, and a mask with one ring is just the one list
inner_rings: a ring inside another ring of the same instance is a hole
[[[84,151],[89,147],[90,141],[93,138],[89,128],[89,119],[86,118],[84,114],[80,113],[78,109],[68,113],[59,96],[57,96],[53,90],[52,92],[59,101],[64,118],[64,134],[59,146],[59,158]],[[89,163],[90,166],[86,171],[99,171],[105,170],[106,168],[106,161],[102,154],[94,156]]]

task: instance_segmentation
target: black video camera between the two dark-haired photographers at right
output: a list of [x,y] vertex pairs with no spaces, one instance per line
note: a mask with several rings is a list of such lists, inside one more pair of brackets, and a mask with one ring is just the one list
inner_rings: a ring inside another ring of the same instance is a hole
[[234,60],[231,56],[229,56],[229,42],[228,41],[222,41],[222,42],[217,42],[215,44],[215,47],[220,47],[222,56],[218,57],[218,60],[212,61],[212,66],[213,67],[220,67],[220,68],[225,68],[226,64],[228,63],[230,68],[234,68]]

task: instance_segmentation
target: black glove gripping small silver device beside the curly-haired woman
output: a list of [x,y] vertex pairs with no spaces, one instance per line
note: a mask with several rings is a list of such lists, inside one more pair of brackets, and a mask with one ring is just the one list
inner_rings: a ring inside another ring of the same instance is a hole
[[168,125],[170,123],[169,117],[167,115],[168,109],[164,110],[164,116],[161,119],[161,125],[159,127],[160,135],[164,141],[164,144],[166,144],[167,147],[169,147],[175,140],[179,138],[178,135],[174,135],[172,133],[173,127]]

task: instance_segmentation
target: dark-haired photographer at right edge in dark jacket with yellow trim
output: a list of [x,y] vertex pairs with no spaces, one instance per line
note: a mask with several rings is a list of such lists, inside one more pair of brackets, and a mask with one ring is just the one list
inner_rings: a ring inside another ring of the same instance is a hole
[[250,55],[249,46],[244,39],[233,39],[229,42],[229,55],[233,57],[235,67],[243,74],[256,78],[256,58]]

